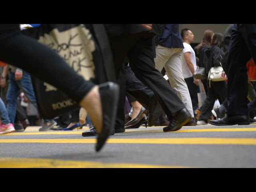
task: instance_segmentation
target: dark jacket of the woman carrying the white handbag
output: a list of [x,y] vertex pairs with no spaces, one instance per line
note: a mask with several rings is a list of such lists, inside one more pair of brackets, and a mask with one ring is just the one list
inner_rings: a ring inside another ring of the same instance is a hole
[[205,69],[206,77],[208,77],[210,68],[214,66],[215,67],[221,66],[221,63],[220,63],[221,49],[218,46],[214,45],[206,48],[204,53],[206,55],[206,62],[205,62],[204,69]]

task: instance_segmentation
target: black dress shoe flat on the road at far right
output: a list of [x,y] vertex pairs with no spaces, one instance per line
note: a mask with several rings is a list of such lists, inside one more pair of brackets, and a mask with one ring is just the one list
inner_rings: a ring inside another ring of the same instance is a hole
[[220,120],[210,120],[212,125],[250,125],[250,118],[247,115],[235,115],[232,117],[225,116]]

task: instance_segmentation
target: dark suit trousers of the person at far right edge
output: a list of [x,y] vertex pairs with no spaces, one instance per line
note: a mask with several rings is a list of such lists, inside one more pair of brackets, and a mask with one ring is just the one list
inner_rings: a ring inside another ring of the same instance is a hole
[[227,115],[248,115],[246,63],[251,57],[256,60],[256,25],[235,24],[231,36],[228,53]]

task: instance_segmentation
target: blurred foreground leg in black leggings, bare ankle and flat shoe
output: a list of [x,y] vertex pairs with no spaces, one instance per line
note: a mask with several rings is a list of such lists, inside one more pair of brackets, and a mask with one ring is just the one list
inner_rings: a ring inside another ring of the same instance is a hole
[[54,50],[22,35],[18,24],[2,24],[0,28],[0,60],[64,91],[86,108],[99,133],[96,144],[99,151],[114,127],[118,85],[107,82],[98,86],[84,80]]

